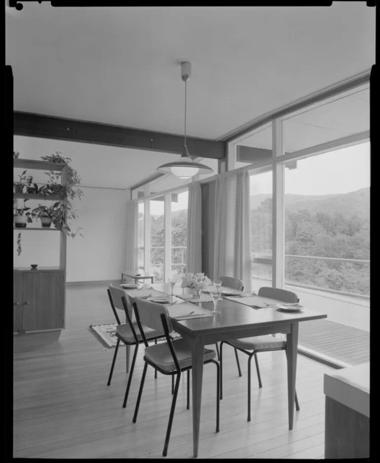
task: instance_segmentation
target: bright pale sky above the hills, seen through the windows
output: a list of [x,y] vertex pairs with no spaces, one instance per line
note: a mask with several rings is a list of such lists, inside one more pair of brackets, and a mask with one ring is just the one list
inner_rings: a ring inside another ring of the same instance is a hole
[[[285,169],[285,194],[331,195],[369,187],[370,165],[369,142],[303,159],[296,169]],[[250,194],[261,193],[272,193],[272,172],[251,176]],[[172,203],[172,210],[187,207],[186,191]],[[163,214],[163,201],[152,201],[151,213]]]

